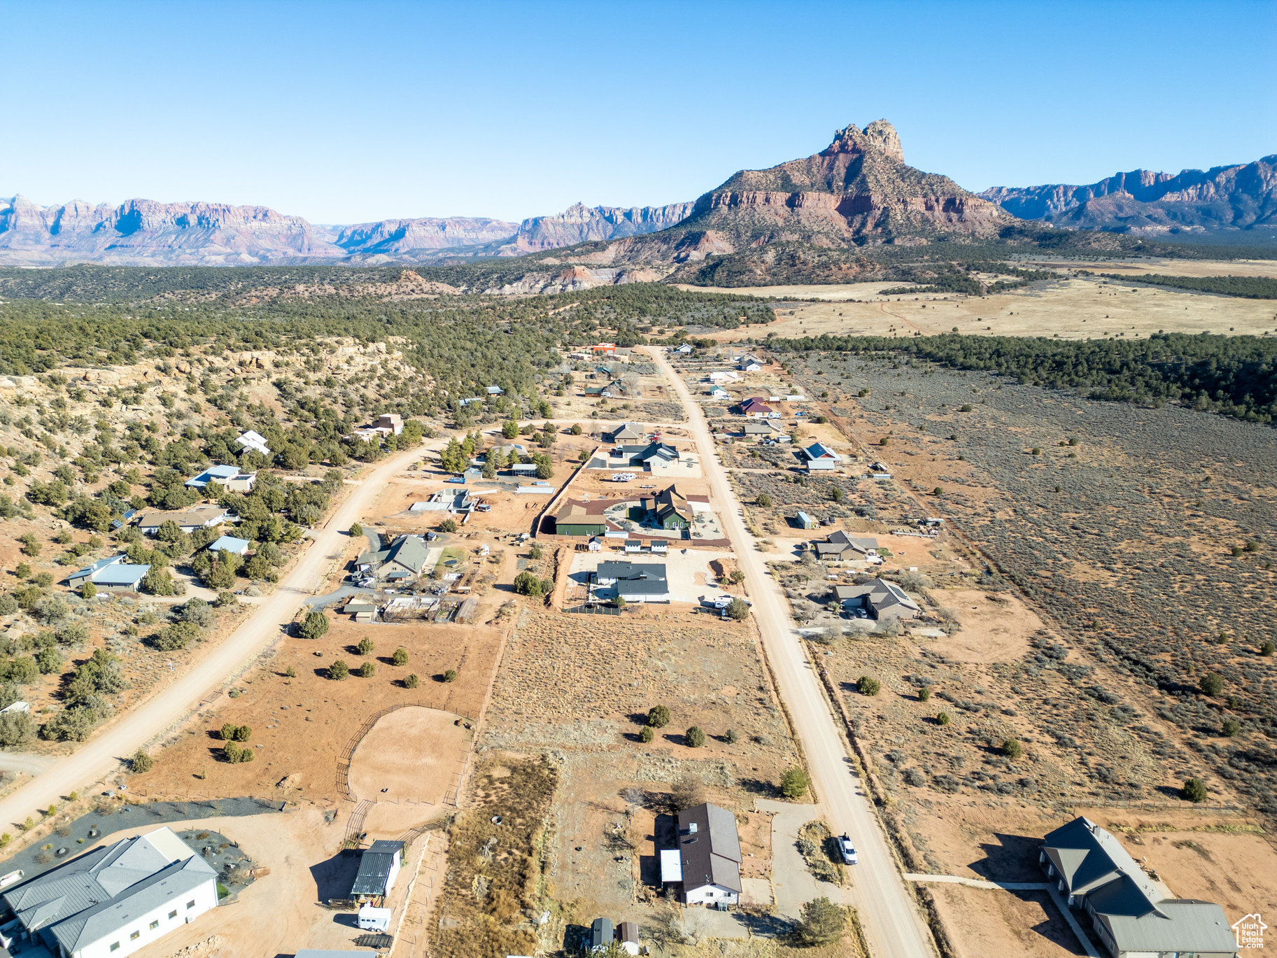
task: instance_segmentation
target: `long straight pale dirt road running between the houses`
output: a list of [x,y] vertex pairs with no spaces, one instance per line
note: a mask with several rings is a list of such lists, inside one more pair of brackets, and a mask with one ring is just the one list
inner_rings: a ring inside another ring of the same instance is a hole
[[825,819],[835,832],[845,830],[852,835],[859,852],[859,863],[853,871],[856,886],[849,898],[859,911],[870,948],[875,955],[932,958],[931,934],[896,871],[886,837],[848,757],[843,733],[797,637],[785,598],[776,581],[767,575],[755,539],[744,528],[741,503],[714,451],[714,439],[700,404],[669,365],[664,351],[659,347],[650,351],[687,409],[684,428],[696,439],[701,468],[719,502],[723,528],[736,545],[737,562],[753,598],[753,616],[775,669],[780,695],[807,755]]

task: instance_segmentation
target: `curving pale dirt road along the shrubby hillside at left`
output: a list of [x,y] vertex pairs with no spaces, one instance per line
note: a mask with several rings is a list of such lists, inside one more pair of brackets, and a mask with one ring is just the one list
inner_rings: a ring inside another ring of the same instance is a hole
[[73,755],[59,759],[13,795],[0,801],[0,829],[17,825],[28,815],[40,820],[40,809],[61,805],[63,796],[82,791],[102,775],[119,768],[119,761],[180,719],[204,695],[264,649],[287,623],[301,600],[321,585],[346,543],[346,530],[386,487],[387,479],[412,460],[424,447],[401,452],[363,476],[346,501],[315,531],[292,571],[261,604],[253,616],[220,645],[194,662],[189,671],[169,687],[138,704],[133,711],[82,745]]

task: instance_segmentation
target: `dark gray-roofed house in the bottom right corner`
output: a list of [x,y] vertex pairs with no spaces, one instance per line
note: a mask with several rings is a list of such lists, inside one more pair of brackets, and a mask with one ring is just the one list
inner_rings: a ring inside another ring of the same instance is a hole
[[1069,906],[1091,916],[1112,958],[1232,958],[1237,953],[1223,908],[1171,898],[1111,833],[1087,817],[1048,834],[1038,862],[1060,893],[1068,894]]

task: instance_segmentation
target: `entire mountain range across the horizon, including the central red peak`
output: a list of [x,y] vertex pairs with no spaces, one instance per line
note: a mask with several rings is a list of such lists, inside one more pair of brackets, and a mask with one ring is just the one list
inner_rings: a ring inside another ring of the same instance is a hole
[[[784,272],[801,277],[805,263],[824,258],[829,267],[831,253],[843,250],[834,257],[835,272],[849,276],[848,257],[866,247],[996,240],[1009,232],[1036,241],[1043,226],[1027,220],[1137,236],[1274,227],[1274,167],[1277,156],[1267,156],[1205,171],[1137,170],[1087,186],[997,186],[973,194],[948,176],[908,166],[895,128],[876,120],[863,130],[838,130],[813,156],[741,170],[693,203],[577,203],[521,224],[447,217],[315,226],[266,207],[149,199],[41,207],[19,195],[0,201],[0,266],[377,264],[531,255],[547,264],[638,267],[644,278],[682,271],[687,278],[688,263],[733,257],[730,271],[741,282],[748,272],[760,281],[778,276],[776,261],[784,257]],[[571,254],[547,255],[562,248]],[[720,272],[727,268],[719,263]],[[696,281],[725,281],[702,273]],[[829,270],[822,275],[836,278]],[[618,277],[605,281],[623,281]]]

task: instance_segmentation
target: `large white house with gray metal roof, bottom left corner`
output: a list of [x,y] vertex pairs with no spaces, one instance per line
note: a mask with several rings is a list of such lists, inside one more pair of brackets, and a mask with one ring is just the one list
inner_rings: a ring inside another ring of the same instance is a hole
[[160,828],[93,848],[0,899],[4,921],[52,954],[123,958],[216,908],[217,872]]

